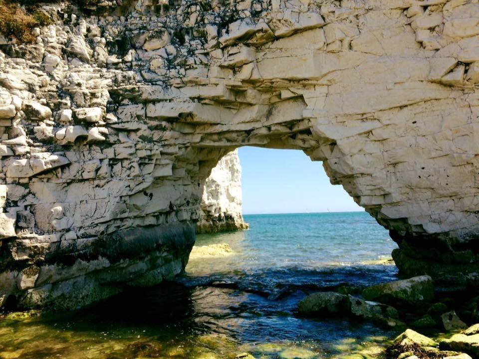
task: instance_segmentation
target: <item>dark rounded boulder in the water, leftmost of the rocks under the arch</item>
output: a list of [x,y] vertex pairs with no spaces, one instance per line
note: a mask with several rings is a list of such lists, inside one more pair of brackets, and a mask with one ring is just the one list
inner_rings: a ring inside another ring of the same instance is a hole
[[334,292],[319,292],[308,295],[298,304],[301,314],[348,313],[348,296]]

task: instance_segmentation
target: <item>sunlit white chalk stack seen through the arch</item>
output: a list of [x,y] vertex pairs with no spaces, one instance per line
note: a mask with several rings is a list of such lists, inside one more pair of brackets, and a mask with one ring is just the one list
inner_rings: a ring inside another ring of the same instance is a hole
[[241,165],[238,151],[223,157],[205,181],[197,233],[248,228],[242,215]]

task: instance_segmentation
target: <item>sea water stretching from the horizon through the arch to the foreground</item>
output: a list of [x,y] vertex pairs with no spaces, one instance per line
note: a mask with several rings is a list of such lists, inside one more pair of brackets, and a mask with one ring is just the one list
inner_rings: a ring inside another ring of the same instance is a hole
[[[305,319],[307,293],[393,280],[395,244],[366,213],[245,216],[250,230],[201,235],[234,254],[191,260],[175,283],[135,289],[91,308],[0,321],[0,358],[376,357],[394,332]],[[364,264],[368,263],[368,264]]]

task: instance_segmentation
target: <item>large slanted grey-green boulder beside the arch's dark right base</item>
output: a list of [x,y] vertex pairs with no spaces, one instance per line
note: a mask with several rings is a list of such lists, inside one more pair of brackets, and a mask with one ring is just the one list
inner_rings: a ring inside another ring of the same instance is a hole
[[414,305],[434,298],[433,280],[429,276],[413,277],[378,284],[363,291],[363,298],[384,303]]

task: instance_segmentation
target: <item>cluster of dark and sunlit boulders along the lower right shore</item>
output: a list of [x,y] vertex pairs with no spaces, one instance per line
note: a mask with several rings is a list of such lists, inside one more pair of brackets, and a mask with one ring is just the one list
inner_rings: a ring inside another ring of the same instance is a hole
[[298,304],[299,315],[348,317],[398,330],[413,328],[406,329],[385,349],[383,355],[388,359],[479,358],[479,324],[472,324],[479,321],[479,296],[462,293],[460,300],[448,297],[435,291],[429,276],[368,287],[361,296],[348,294],[347,288],[341,292],[308,295]]

